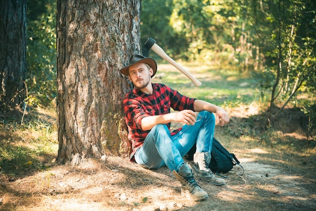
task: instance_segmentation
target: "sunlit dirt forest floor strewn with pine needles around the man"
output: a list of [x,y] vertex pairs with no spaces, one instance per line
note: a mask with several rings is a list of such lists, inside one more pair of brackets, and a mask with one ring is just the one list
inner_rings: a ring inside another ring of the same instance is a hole
[[[316,210],[315,141],[306,141],[297,120],[288,125],[296,125],[297,131],[251,137],[243,133],[260,125],[258,119],[254,124],[248,119],[257,115],[256,106],[228,110],[231,121],[217,126],[215,137],[235,153],[245,172],[239,175],[240,168],[234,167],[225,174],[225,187],[197,180],[209,195],[205,201],[182,197],[180,183],[166,167],[147,170],[118,156],[87,159],[80,166],[56,165],[55,151],[45,156],[44,169],[0,175],[0,210]],[[3,125],[0,132],[3,142],[25,147],[34,136]],[[54,132],[51,138],[56,136]]]

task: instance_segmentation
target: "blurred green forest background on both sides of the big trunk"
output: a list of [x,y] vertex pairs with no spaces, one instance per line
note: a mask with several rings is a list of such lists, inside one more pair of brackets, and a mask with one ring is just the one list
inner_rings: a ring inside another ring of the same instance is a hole
[[[26,101],[47,105],[56,97],[56,1],[27,7]],[[314,1],[147,0],[141,8],[142,44],[153,37],[174,59],[260,78],[269,119],[288,103],[315,116]]]

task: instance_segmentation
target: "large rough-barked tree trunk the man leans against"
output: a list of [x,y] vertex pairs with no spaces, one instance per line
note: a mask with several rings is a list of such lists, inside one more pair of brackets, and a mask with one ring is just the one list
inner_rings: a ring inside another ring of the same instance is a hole
[[140,0],[58,0],[57,162],[130,150],[119,70],[140,52]]

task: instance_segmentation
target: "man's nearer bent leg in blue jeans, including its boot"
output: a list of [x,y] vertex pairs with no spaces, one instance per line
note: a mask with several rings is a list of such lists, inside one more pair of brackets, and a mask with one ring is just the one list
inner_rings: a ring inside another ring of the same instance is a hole
[[143,167],[152,169],[166,164],[181,183],[181,195],[194,201],[208,198],[207,193],[196,183],[191,167],[184,164],[166,125],[156,125],[151,129],[143,146],[137,150],[135,160]]

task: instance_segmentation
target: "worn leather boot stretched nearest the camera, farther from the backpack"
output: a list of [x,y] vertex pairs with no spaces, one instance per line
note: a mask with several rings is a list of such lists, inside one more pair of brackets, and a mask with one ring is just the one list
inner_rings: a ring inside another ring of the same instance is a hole
[[207,193],[195,182],[192,169],[188,164],[182,165],[179,173],[175,170],[173,170],[172,173],[181,183],[182,196],[186,196],[188,199],[194,201],[200,201],[208,198]]

